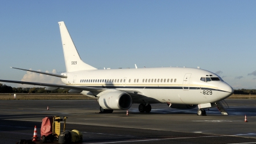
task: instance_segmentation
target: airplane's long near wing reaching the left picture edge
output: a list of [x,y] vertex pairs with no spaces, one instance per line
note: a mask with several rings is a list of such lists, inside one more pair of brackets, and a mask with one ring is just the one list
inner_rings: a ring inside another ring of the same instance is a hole
[[19,83],[19,84],[30,84],[30,85],[36,85],[36,86],[51,86],[51,87],[58,87],[58,88],[70,88],[74,90],[86,90],[90,92],[102,92],[106,90],[106,88],[93,88],[88,86],[72,86],[72,85],[61,85],[61,84],[49,84],[49,83],[35,83],[35,82],[29,82],[29,81],[10,81],[10,80],[4,80],[0,79],[2,82],[6,83]]

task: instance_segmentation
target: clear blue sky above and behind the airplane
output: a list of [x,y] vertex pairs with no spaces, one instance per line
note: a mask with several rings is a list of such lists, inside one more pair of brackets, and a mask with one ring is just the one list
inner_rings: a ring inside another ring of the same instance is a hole
[[[61,83],[58,22],[93,67],[200,67],[256,88],[256,1],[1,1],[0,79]],[[26,86],[4,83],[8,86]],[[33,87],[33,86],[31,86]]]

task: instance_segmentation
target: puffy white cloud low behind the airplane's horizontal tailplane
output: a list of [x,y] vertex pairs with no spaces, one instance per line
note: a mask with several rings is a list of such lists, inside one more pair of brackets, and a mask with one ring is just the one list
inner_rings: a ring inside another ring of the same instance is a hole
[[[29,70],[32,70],[31,68]],[[37,70],[41,72],[41,70]],[[45,72],[49,72],[46,70]],[[52,70],[52,74],[57,74],[55,69]],[[37,82],[37,83],[51,83],[51,84],[63,84],[60,77],[48,76],[45,74],[38,74],[35,72],[27,72],[21,79],[21,81],[30,81],[30,82]],[[31,87],[40,87],[28,84],[18,84],[18,87],[23,88],[31,88]],[[45,87],[45,86],[43,86]]]

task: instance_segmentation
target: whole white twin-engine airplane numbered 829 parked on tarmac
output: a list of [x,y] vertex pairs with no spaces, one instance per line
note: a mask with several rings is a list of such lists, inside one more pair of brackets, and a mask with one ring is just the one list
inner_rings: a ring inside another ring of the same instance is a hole
[[1,79],[0,81],[47,86],[45,90],[70,88],[70,93],[82,93],[97,99],[101,113],[112,113],[114,109],[126,110],[131,108],[132,104],[140,104],[139,111],[149,113],[150,104],[163,103],[168,104],[170,108],[180,109],[198,106],[197,115],[205,115],[205,108],[217,106],[218,109],[223,109],[220,101],[234,92],[220,76],[199,67],[98,70],[81,60],[65,23],[58,22],[58,24],[67,72],[50,74],[16,69],[60,77],[65,85]]

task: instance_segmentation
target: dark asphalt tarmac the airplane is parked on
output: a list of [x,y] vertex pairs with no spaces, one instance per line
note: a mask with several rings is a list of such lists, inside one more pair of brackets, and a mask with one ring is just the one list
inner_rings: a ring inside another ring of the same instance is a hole
[[51,115],[68,116],[66,129],[81,131],[83,143],[256,143],[256,100],[226,102],[229,115],[211,108],[207,116],[197,116],[196,108],[166,104],[151,104],[150,113],[140,113],[133,104],[126,115],[99,113],[96,100],[2,100],[0,143],[31,140],[35,125],[40,137],[42,118]]

